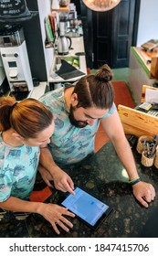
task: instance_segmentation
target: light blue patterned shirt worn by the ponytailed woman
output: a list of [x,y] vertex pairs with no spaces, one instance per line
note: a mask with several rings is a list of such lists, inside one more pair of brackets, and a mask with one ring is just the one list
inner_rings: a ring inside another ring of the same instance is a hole
[[0,133],[0,202],[10,196],[28,199],[37,176],[39,152],[37,146],[9,146]]

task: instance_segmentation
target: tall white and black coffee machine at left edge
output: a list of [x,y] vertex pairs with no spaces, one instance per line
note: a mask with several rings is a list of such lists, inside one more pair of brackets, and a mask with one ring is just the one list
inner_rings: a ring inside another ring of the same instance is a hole
[[21,25],[0,27],[0,52],[10,95],[15,96],[16,101],[22,101],[33,91],[33,80]]

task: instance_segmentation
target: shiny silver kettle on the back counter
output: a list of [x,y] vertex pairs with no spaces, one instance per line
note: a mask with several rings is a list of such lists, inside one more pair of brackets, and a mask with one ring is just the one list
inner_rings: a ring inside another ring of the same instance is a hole
[[70,37],[60,36],[58,37],[58,54],[67,55],[68,50],[71,48],[72,40]]

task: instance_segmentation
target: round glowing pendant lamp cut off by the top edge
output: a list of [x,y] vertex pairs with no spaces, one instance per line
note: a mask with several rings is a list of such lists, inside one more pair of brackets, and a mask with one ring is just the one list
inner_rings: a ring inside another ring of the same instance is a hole
[[83,3],[93,11],[105,12],[119,5],[121,0],[83,0]]

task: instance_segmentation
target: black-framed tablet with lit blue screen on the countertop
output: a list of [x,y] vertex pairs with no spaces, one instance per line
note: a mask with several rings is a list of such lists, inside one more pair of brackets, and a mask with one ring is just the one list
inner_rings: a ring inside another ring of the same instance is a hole
[[59,204],[75,213],[90,228],[97,229],[110,216],[113,208],[79,187],[75,187],[74,192],[75,196],[68,194]]

